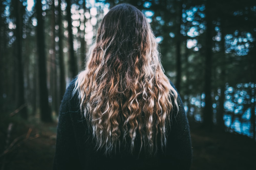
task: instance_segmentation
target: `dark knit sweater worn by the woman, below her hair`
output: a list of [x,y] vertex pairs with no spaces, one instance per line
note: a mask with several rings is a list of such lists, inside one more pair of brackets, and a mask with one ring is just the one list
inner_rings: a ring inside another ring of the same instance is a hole
[[[75,80],[67,88],[60,106],[53,169],[190,168],[192,151],[189,125],[179,96],[179,112],[177,114],[177,108],[174,108],[165,148],[158,147],[157,153],[153,156],[143,151],[138,156],[138,149],[135,148],[134,153],[130,154],[127,148],[121,147],[115,154],[106,156],[104,151],[95,150],[92,131],[79,109],[78,96],[72,95]],[[137,140],[137,143],[135,141],[135,146],[140,146],[140,140]]]

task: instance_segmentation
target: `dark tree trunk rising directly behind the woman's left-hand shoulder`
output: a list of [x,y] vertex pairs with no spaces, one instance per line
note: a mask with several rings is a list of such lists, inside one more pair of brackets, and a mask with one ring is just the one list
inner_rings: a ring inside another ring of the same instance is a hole
[[71,21],[71,2],[67,1],[67,20],[68,20],[68,44],[69,44],[69,71],[71,74],[71,78],[74,78],[77,71],[77,61],[74,54],[74,46],[73,46],[73,32],[72,32],[72,21]]

